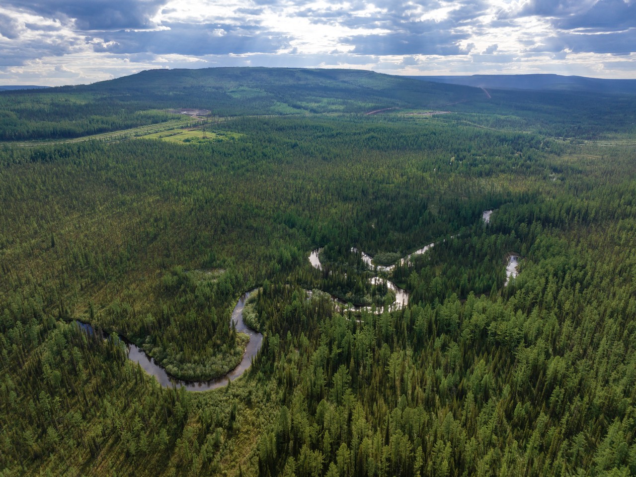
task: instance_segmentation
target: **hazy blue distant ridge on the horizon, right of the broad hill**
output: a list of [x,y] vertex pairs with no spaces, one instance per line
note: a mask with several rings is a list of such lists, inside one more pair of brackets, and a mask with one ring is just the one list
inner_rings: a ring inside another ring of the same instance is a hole
[[478,88],[595,91],[636,94],[636,80],[608,80],[561,75],[408,76],[415,80]]

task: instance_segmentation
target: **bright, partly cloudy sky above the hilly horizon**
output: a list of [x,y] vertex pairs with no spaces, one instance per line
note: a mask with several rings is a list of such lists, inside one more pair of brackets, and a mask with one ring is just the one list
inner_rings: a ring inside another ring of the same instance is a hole
[[636,0],[3,0],[0,85],[144,69],[636,79]]

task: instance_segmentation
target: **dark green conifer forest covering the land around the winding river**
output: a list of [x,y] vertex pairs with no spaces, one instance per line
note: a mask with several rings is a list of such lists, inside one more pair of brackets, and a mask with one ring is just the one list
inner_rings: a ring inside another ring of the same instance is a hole
[[[636,474],[636,97],[489,92],[262,68],[0,92],[0,476]],[[128,359],[224,376],[254,289],[263,346],[225,387]]]

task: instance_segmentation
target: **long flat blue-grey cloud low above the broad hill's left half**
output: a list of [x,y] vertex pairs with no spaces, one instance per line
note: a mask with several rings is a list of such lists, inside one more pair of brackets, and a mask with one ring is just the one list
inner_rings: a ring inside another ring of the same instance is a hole
[[106,32],[92,38],[97,52],[157,55],[226,55],[273,53],[289,46],[289,38],[258,27],[226,24],[167,24],[169,30]]

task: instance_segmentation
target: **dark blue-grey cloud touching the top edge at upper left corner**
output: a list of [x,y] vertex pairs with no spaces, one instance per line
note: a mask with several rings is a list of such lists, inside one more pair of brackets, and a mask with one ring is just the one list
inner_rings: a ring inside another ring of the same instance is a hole
[[47,18],[76,20],[79,30],[148,29],[166,0],[8,0],[4,6]]

